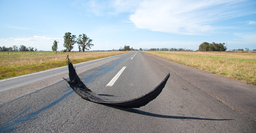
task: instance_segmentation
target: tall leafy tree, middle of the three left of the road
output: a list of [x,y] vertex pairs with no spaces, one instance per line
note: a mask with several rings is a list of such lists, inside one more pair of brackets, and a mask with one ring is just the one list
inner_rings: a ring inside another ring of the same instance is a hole
[[76,37],[75,35],[71,36],[70,32],[66,32],[63,38],[64,38],[63,47],[66,47],[68,52],[70,52],[74,48],[73,46],[76,43],[76,40],[75,40]]

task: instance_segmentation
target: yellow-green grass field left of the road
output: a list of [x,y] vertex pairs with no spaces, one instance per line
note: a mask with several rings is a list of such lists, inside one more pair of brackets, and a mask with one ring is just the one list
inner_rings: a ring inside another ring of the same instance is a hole
[[124,53],[128,53],[128,51],[0,55],[0,79],[66,66],[67,64],[65,59],[67,58],[67,55],[69,55],[69,58],[72,60],[73,64],[77,64]]

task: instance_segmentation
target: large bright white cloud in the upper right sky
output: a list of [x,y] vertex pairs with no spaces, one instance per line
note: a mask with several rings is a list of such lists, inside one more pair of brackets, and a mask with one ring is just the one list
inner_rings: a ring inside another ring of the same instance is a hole
[[130,16],[136,27],[174,34],[205,34],[211,22],[246,15],[244,0],[150,0]]

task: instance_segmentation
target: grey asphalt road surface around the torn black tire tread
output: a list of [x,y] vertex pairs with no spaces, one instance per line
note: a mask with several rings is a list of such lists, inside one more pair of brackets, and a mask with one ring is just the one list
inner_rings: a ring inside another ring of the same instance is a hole
[[156,99],[136,109],[80,98],[61,79],[68,78],[67,67],[0,81],[0,132],[256,132],[254,86],[143,52],[78,66],[85,85],[113,101],[142,96],[171,76]]

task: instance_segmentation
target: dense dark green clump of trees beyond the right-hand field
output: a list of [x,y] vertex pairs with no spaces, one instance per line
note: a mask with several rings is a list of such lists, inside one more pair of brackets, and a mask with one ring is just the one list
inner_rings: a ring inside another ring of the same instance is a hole
[[225,43],[208,43],[208,42],[203,42],[199,46],[199,51],[226,51],[227,48],[224,46]]

